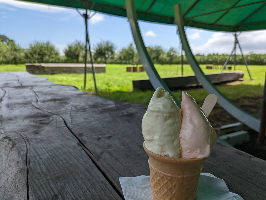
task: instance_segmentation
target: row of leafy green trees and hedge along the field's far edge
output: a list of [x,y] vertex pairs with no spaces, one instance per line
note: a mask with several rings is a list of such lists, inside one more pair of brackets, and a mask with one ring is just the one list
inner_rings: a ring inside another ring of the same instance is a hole
[[[180,64],[181,56],[176,48],[170,47],[165,51],[161,46],[147,47],[153,63],[157,64]],[[85,44],[81,41],[74,41],[64,49],[64,56],[59,54],[59,50],[49,41],[34,41],[30,43],[29,48],[23,49],[14,40],[7,36],[0,35],[0,63],[18,64],[18,63],[84,63]],[[199,64],[217,64],[224,63],[228,54],[196,54],[195,58]],[[245,55],[248,64],[265,64],[266,54],[250,53]],[[131,64],[140,62],[137,50],[132,43],[117,50],[111,41],[98,42],[93,47],[93,59],[95,63],[119,63]],[[87,62],[90,62],[88,56]],[[184,56],[184,64],[187,64]],[[233,56],[228,64],[233,64]],[[243,64],[241,55],[236,55],[236,64]]]

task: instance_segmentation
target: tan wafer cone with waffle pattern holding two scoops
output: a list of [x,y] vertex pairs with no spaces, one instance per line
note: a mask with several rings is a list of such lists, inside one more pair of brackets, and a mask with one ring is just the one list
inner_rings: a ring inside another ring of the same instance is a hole
[[150,185],[155,200],[193,200],[196,196],[202,162],[206,158],[182,159],[149,155]]

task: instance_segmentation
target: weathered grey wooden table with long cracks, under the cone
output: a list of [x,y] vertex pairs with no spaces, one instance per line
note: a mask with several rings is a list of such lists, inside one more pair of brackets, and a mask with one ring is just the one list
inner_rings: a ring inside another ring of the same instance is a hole
[[[148,175],[145,106],[27,72],[0,74],[0,199],[121,199],[119,177]],[[266,162],[217,143],[203,171],[266,199]]]

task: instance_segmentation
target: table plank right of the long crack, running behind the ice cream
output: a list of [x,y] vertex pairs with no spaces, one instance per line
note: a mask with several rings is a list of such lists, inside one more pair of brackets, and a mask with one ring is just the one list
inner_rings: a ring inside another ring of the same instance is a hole
[[[36,88],[35,93],[40,109],[64,118],[87,153],[120,191],[119,177],[149,174],[141,132],[147,107],[100,98],[69,86]],[[230,191],[244,199],[265,199],[265,164],[217,143],[204,162],[203,171],[224,179]]]

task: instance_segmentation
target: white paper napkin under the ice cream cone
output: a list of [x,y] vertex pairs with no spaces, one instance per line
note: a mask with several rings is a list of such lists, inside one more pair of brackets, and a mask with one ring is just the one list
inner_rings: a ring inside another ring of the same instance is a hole
[[[153,200],[150,176],[119,178],[125,200]],[[200,173],[195,200],[243,200],[238,194],[229,191],[223,179],[210,173]]]

